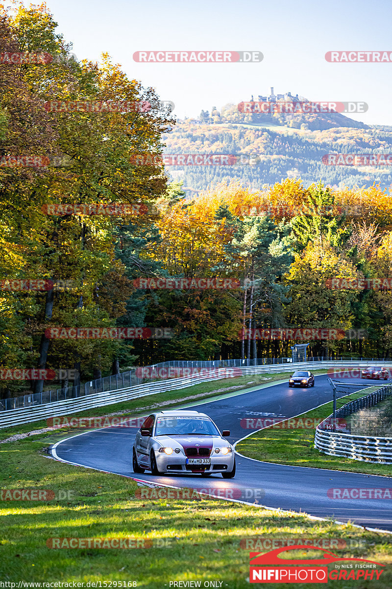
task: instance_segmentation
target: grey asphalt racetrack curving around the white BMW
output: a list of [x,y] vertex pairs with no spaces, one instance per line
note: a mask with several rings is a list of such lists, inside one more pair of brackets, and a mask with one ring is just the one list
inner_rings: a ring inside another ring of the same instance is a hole
[[[350,380],[347,379],[347,382]],[[378,383],[376,380],[360,379],[352,379],[351,382]],[[192,405],[192,409],[209,415],[220,431],[230,429],[229,440],[234,443],[253,431],[242,428],[242,419],[289,418],[331,401],[331,398],[327,375],[322,375],[316,376],[314,387],[309,389],[289,388],[288,383],[272,385]],[[52,455],[72,464],[136,478],[149,484],[206,489],[221,497],[249,503],[256,501],[271,508],[292,509],[341,522],[350,520],[366,527],[392,531],[391,499],[339,499],[327,494],[331,488],[392,488],[390,477],[283,466],[254,461],[239,454],[236,455],[237,471],[233,479],[223,479],[221,475],[202,478],[200,475],[185,474],[153,477],[149,471],[135,475],[132,469],[135,433],[136,428],[126,427],[89,430],[58,442],[52,448]]]

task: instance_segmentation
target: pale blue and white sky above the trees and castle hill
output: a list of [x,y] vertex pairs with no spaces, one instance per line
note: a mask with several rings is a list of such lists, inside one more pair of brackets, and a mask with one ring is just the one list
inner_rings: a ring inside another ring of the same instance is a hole
[[[26,5],[29,2],[25,3]],[[72,52],[108,52],[130,78],[175,104],[179,118],[292,92],[360,101],[367,124],[392,125],[390,63],[329,63],[327,51],[392,53],[391,0],[47,0]],[[252,63],[138,63],[135,51],[261,51]],[[392,56],[391,56],[392,57]]]

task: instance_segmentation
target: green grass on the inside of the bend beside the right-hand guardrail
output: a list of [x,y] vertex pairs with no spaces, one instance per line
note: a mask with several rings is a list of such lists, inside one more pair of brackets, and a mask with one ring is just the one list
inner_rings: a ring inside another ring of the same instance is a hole
[[[379,387],[375,387],[376,390]],[[373,389],[350,395],[347,402],[368,395]],[[342,399],[343,401],[343,399]],[[343,405],[338,401],[339,405]],[[326,403],[317,409],[301,415],[302,418],[326,418],[333,412],[333,403]],[[287,420],[286,420],[287,422]],[[285,423],[286,423],[285,422]],[[314,448],[314,429],[283,429],[282,426],[262,429],[236,445],[237,452],[266,462],[277,462],[293,466],[311,466],[331,470],[363,472],[365,474],[392,475],[392,466],[356,461],[343,456],[329,456]]]

